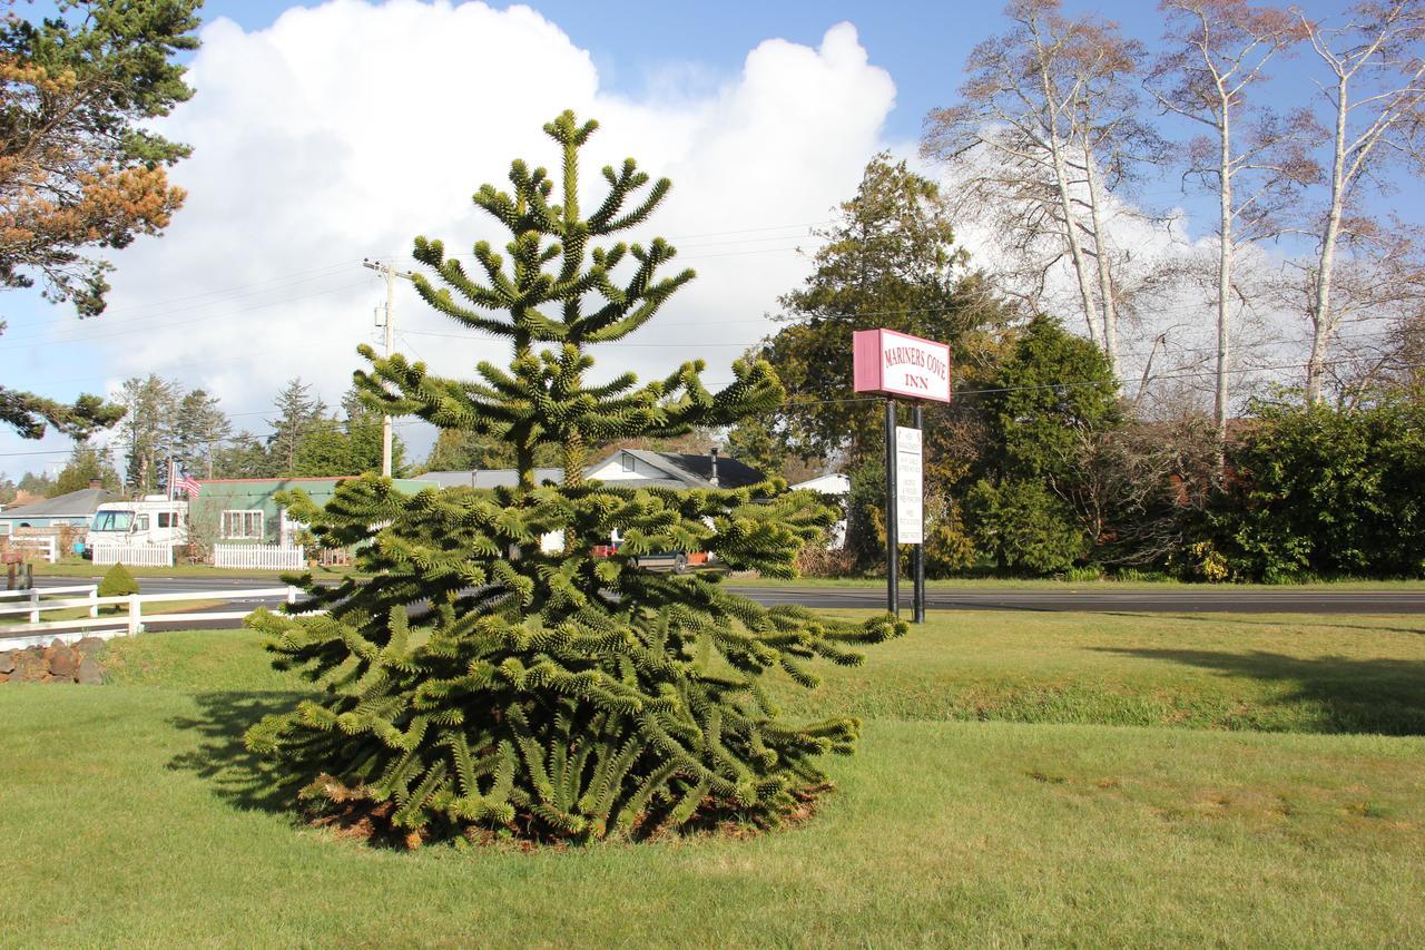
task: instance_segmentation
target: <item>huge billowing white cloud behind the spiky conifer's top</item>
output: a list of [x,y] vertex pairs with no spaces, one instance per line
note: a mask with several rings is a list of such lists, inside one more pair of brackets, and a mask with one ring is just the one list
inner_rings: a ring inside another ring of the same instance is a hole
[[[654,231],[681,238],[700,271],[661,327],[596,351],[601,368],[661,374],[705,357],[708,378],[727,379],[738,349],[712,344],[765,332],[762,314],[807,271],[792,248],[854,191],[895,98],[849,24],[819,48],[768,40],[714,91],[698,77],[644,97],[601,91],[590,54],[526,7],[333,0],[251,33],[218,20],[202,39],[197,96],[164,126],[194,145],[174,173],[188,204],[161,241],[120,255],[103,327],[123,344],[115,379],[178,377],[232,412],[264,409],[294,375],[338,395],[383,298],[359,261],[408,262],[416,234],[452,250],[503,242],[469,197],[514,157],[556,164],[540,126],[563,108],[601,123],[586,207],[597,168],[636,155],[674,180]],[[436,371],[503,357],[502,344],[422,335],[460,331],[409,288],[396,308],[409,334],[398,349]]]

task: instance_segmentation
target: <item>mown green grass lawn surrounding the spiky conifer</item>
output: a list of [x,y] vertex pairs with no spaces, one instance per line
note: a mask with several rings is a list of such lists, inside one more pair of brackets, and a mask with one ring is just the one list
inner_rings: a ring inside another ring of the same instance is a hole
[[868,720],[805,826],[534,854],[299,826],[252,633],[108,660],[0,688],[0,944],[1425,941],[1425,737],[1325,735],[1425,733],[1419,618],[939,615],[818,692]]

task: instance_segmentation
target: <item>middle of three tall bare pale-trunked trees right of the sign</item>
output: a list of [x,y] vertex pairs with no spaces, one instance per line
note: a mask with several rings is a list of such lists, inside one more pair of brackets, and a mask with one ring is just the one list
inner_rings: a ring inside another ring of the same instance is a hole
[[1214,419],[1218,472],[1227,444],[1231,398],[1235,254],[1245,244],[1277,235],[1295,187],[1318,175],[1305,154],[1302,131],[1312,123],[1297,113],[1281,117],[1248,100],[1267,78],[1267,64],[1305,31],[1291,11],[1247,0],[1163,0],[1167,51],[1149,77],[1159,106],[1203,127],[1187,151],[1186,175],[1218,200],[1217,218],[1217,372]]

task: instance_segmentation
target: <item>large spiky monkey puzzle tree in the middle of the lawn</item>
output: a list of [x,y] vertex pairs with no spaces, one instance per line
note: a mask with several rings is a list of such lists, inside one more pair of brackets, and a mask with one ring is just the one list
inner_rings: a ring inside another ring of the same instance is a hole
[[[482,241],[476,277],[439,241],[416,240],[416,260],[443,284],[418,275],[416,290],[509,339],[509,367],[482,362],[479,381],[445,379],[363,348],[372,368],[356,372],[375,408],[507,439],[519,484],[408,496],[365,476],[325,509],[294,499],[325,543],[362,545],[373,578],[326,589],[306,576],[305,615],[252,618],[279,666],[325,689],[264,719],[248,745],[309,776],[308,797],[389,822],[408,842],[775,822],[824,782],[819,755],[852,750],[858,723],[785,722],[764,678],[809,688],[808,660],[856,663],[849,645],[905,632],[889,618],[856,626],[765,609],[714,576],[638,566],[651,551],[708,551],[789,576],[801,542],[834,515],[779,479],[685,492],[584,479],[591,446],[728,424],[782,397],[764,361],[735,364],[735,382],[717,394],[698,379],[701,361],[643,387],[631,374],[586,378],[591,347],[644,325],[693,278],[657,277],[674,257],[661,238],[596,245],[643,224],[670,183],[648,187],[631,158],[604,168],[607,195],[584,217],[579,153],[594,128],[573,113],[544,127],[561,148],[557,204],[554,180],[523,161],[512,191],[476,193],[510,231],[507,261]],[[563,484],[534,484],[534,454],[547,445],[563,456]],[[596,556],[613,531],[617,553]]]

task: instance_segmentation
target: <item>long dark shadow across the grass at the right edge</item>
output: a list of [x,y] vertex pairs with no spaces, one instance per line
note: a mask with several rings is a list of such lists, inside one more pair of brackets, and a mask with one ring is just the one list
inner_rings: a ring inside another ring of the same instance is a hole
[[1110,646],[1093,649],[1099,653],[1186,663],[1264,683],[1291,683],[1295,689],[1267,702],[1314,708],[1311,732],[1425,735],[1425,660],[1344,656],[1307,659],[1265,650],[1221,653]]

